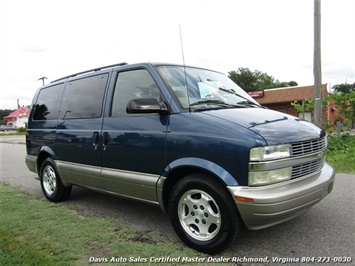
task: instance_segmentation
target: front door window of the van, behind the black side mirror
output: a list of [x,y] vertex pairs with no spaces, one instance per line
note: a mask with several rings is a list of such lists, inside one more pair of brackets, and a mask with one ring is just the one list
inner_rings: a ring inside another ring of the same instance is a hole
[[119,73],[112,100],[111,116],[129,115],[126,111],[127,103],[137,98],[161,100],[160,89],[152,76],[145,69]]

